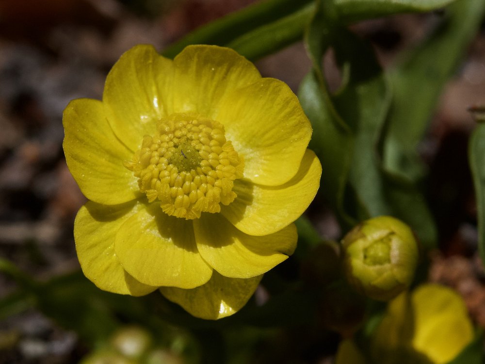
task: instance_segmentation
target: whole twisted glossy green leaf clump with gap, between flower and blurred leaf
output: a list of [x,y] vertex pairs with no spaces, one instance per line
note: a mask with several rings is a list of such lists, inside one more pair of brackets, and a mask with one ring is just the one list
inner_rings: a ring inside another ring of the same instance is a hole
[[[417,232],[423,245],[433,247],[436,229],[422,194],[414,182],[382,168],[378,144],[391,93],[372,48],[337,24],[335,8],[327,2],[319,7],[306,41],[314,69],[299,98],[314,129],[310,148],[322,162],[323,196],[348,224],[394,215]],[[343,74],[335,95],[329,94],[319,62],[329,47]]]

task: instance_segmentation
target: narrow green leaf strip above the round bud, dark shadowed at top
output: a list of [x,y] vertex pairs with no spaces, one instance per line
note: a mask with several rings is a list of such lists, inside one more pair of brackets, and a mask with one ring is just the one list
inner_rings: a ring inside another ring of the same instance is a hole
[[371,46],[345,29],[337,33],[334,50],[346,83],[332,99],[355,135],[349,184],[357,199],[354,204],[364,209],[356,217],[390,215],[377,151],[390,101],[384,73]]

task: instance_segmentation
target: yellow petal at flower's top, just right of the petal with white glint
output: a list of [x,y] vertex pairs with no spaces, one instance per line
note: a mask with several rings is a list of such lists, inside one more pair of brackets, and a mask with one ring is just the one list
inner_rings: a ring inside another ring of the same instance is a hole
[[195,112],[211,119],[226,93],[261,79],[251,62],[217,46],[188,46],[175,57],[174,66],[174,112]]

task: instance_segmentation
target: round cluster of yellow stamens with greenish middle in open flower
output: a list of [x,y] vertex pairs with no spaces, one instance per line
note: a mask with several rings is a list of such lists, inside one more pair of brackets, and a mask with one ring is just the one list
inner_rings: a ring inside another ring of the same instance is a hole
[[160,120],[158,133],[145,135],[141,149],[124,165],[148,202],[159,199],[163,212],[187,220],[220,212],[220,203],[234,201],[234,180],[244,169],[224,126],[193,114]]

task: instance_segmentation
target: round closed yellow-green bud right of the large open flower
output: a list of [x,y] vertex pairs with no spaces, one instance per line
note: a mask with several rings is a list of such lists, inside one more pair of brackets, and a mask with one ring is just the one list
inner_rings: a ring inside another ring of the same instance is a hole
[[367,297],[387,301],[409,287],[418,263],[418,243],[402,221],[379,216],[363,221],[342,241],[349,283]]

